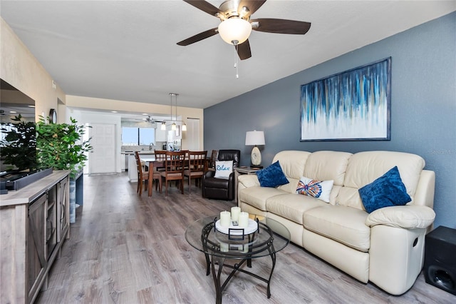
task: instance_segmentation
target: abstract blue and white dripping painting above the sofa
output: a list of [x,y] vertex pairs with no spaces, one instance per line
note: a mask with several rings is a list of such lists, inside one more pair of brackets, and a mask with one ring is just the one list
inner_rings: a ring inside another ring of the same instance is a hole
[[391,57],[301,86],[301,141],[389,141]]

